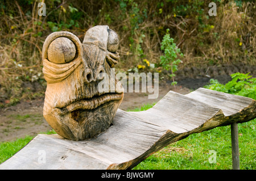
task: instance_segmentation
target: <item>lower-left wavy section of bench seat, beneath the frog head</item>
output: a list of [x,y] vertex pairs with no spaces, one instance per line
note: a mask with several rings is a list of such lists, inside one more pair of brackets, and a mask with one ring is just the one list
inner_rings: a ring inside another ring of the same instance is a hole
[[[113,163],[121,167],[119,164],[142,155],[166,132],[157,125],[137,121],[137,117],[123,113],[125,112],[118,110],[112,127],[90,140],[71,141],[57,134],[39,134],[0,168],[108,169]],[[39,150],[46,151],[47,164],[38,163]],[[76,154],[77,166],[72,164],[75,162],[74,158],[69,157],[72,153],[79,153]],[[65,157],[64,161],[62,157]],[[20,161],[26,165],[20,165]],[[93,164],[88,165],[88,163]],[[54,168],[52,165],[55,165]],[[123,165],[122,168],[126,169],[128,166]]]

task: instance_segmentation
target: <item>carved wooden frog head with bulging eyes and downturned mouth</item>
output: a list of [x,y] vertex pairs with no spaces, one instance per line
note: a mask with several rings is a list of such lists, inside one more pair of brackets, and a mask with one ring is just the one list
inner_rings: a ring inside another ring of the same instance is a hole
[[[43,45],[43,73],[47,81],[43,115],[64,138],[85,140],[112,124],[123,99],[118,79],[114,91],[98,89],[102,74],[118,62],[117,33],[108,26],[90,28],[81,43],[71,32],[51,33]],[[115,76],[115,75],[114,75]]]

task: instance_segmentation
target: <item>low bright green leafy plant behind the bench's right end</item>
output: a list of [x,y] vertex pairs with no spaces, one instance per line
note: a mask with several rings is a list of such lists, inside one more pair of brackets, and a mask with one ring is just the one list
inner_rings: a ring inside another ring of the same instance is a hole
[[256,100],[256,78],[251,78],[250,73],[231,74],[232,81],[222,85],[215,79],[210,79],[210,85],[205,86],[207,89],[226,92],[229,94],[246,96]]

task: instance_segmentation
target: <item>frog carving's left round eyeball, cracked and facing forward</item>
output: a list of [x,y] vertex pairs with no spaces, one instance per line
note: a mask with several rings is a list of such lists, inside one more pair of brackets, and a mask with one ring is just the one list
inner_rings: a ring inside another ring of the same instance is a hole
[[48,60],[55,64],[66,64],[76,56],[75,44],[67,37],[58,37],[49,44]]

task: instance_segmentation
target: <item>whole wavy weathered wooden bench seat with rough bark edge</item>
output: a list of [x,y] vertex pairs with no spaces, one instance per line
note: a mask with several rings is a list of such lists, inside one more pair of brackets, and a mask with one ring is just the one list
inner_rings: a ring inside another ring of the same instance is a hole
[[188,95],[170,91],[147,111],[118,110],[112,126],[89,140],[39,134],[0,169],[131,169],[190,134],[255,117],[256,102],[250,98],[205,89]]

